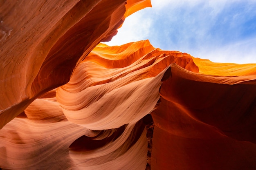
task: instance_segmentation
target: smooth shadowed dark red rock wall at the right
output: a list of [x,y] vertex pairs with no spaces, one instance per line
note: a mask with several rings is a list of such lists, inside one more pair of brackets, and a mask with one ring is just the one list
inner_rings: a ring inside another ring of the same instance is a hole
[[255,169],[256,75],[209,76],[177,64],[170,68],[151,113],[152,169]]

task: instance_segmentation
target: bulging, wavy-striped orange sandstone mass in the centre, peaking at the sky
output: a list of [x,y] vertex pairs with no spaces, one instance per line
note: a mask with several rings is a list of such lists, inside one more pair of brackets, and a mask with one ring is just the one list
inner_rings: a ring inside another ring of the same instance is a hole
[[172,62],[198,70],[188,55],[155,49],[148,40],[97,46],[56,98],[69,121],[93,130],[135,123],[155,107],[163,70]]

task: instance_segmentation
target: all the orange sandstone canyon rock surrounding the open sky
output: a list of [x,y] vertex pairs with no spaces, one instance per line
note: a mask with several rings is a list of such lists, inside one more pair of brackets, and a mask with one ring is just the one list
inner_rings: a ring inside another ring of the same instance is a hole
[[256,64],[99,44],[148,6],[0,1],[0,168],[255,170]]

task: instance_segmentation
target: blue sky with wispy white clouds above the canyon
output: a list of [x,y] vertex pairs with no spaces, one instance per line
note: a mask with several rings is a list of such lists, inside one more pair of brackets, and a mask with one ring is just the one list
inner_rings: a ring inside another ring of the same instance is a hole
[[154,47],[213,62],[256,63],[256,0],[151,0],[106,44]]

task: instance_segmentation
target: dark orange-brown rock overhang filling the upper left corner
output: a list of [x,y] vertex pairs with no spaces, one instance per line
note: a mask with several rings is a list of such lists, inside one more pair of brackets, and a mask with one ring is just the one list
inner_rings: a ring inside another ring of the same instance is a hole
[[150,6],[148,0],[1,1],[0,128],[37,97],[66,84],[125,17]]

